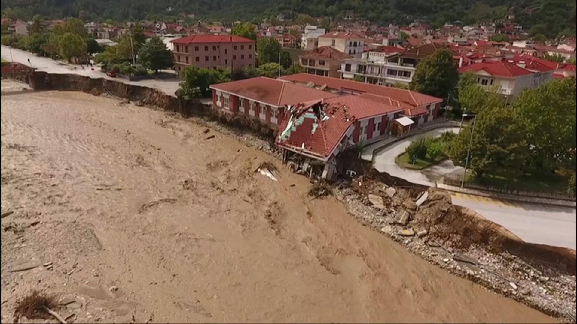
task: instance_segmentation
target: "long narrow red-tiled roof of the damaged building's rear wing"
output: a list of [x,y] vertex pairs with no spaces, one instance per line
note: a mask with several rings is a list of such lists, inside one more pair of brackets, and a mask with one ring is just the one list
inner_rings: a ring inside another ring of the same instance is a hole
[[317,86],[326,85],[331,89],[350,91],[358,94],[372,93],[373,95],[390,97],[391,99],[402,101],[403,103],[409,104],[409,106],[412,107],[443,101],[443,99],[424,95],[415,91],[392,88],[391,86],[382,86],[338,78],[316,76],[314,74],[298,73],[291,76],[282,77],[282,79],[302,84],[313,82]]

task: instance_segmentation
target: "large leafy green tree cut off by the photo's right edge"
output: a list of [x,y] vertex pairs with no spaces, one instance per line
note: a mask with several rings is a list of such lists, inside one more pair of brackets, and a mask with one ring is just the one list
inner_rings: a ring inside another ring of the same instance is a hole
[[523,122],[535,170],[575,169],[576,97],[572,77],[526,89],[513,103]]

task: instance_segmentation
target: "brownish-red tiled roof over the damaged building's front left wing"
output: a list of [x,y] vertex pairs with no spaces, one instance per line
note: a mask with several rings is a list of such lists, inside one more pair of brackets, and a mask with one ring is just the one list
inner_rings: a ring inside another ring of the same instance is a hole
[[303,101],[337,96],[335,93],[266,77],[214,84],[211,85],[211,89],[230,92],[234,95],[261,101],[272,106],[285,106],[287,104],[297,104]]

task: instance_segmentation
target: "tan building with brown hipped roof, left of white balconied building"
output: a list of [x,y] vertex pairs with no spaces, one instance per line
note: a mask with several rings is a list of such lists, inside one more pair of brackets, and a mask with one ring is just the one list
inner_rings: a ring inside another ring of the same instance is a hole
[[330,46],[306,51],[298,56],[298,60],[305,68],[306,73],[334,78],[338,78],[340,75],[340,60],[350,58],[353,56],[337,51]]

